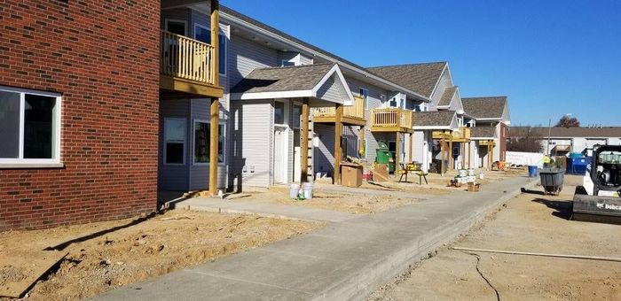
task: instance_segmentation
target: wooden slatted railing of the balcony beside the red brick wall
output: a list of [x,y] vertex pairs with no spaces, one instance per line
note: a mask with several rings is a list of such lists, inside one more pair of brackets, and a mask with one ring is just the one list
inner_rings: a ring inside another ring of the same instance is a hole
[[183,35],[161,30],[160,73],[215,85],[215,48]]

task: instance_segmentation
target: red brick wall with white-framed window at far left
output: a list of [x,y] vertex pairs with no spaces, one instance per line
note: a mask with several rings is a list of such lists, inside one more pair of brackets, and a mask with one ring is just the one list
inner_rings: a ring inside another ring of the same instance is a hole
[[0,85],[62,94],[64,168],[0,169],[0,231],[153,212],[160,1],[0,0]]

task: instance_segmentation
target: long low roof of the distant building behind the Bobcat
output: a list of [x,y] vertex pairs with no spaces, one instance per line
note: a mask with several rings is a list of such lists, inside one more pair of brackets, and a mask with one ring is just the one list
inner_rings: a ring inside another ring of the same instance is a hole
[[[509,127],[507,135],[509,137],[521,137],[531,128],[535,135],[547,137],[547,127]],[[621,138],[621,127],[552,127],[550,136],[552,137],[582,137],[582,138]]]

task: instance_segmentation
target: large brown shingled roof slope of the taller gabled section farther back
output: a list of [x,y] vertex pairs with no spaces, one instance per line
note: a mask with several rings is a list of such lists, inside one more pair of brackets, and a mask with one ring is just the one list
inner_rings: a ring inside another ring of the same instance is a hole
[[395,81],[405,88],[412,89],[423,96],[431,97],[440,80],[446,62],[422,63],[398,66],[377,66],[367,68],[372,73]]

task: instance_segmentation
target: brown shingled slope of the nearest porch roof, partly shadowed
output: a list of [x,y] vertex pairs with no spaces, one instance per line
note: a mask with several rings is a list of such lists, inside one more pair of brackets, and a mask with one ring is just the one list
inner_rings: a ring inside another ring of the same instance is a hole
[[313,89],[336,65],[315,64],[255,69],[231,89],[231,93],[261,93]]

